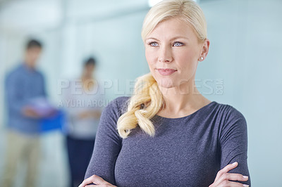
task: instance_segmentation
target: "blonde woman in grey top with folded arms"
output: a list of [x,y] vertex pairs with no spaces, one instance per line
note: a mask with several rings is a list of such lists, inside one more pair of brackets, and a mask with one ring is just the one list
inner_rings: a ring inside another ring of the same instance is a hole
[[209,51],[201,8],[161,1],[147,13],[142,39],[150,73],[133,96],[102,112],[80,186],[250,186],[245,117],[195,87]]

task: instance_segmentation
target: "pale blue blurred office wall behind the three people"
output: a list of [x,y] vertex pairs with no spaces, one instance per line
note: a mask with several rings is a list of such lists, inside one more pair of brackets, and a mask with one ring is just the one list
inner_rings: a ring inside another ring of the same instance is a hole
[[[207,98],[243,113],[248,128],[252,186],[281,186],[282,1],[200,0],[211,41],[197,69]],[[4,77],[22,63],[25,42],[44,44],[38,67],[56,105],[61,82],[80,75],[88,56],[98,60],[106,100],[129,95],[136,77],[149,72],[140,37],[147,0],[0,0],[0,176],[4,166]],[[131,89],[130,89],[131,88]],[[38,186],[66,186],[63,136],[44,134]],[[20,185],[23,174],[15,176]]]

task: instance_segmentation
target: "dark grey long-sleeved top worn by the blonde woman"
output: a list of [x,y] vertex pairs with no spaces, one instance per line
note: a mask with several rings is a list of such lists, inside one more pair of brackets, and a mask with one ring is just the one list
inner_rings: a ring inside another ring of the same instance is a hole
[[247,124],[230,105],[213,101],[191,115],[152,118],[154,138],[139,127],[128,138],[118,136],[116,122],[129,97],[104,108],[85,179],[93,174],[118,187],[209,186],[217,172],[238,162],[231,173],[249,176]]

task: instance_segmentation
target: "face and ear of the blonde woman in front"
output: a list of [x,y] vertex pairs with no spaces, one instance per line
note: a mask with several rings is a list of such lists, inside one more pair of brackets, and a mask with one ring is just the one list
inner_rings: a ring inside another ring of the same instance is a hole
[[209,40],[199,41],[179,18],[160,22],[145,39],[149,69],[159,86],[167,89],[193,81],[198,60],[207,56],[208,49]]

